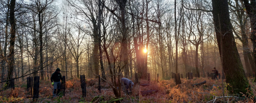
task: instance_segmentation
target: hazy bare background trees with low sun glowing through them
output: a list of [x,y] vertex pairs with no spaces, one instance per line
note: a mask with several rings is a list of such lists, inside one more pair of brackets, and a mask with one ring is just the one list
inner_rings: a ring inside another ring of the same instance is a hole
[[[212,5],[175,1],[176,8],[166,0],[0,0],[1,81],[33,72],[49,79],[57,67],[67,80],[83,74],[116,81],[121,74],[169,79],[172,72],[205,77],[213,67],[223,71]],[[244,10],[249,4],[228,3],[237,56],[252,75],[254,16]]]

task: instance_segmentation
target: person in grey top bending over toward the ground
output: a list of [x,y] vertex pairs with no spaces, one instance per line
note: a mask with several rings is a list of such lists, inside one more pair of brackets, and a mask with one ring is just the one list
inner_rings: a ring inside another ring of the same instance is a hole
[[[123,84],[125,84],[125,88],[123,87]],[[123,91],[125,93],[127,93],[127,94],[132,93],[133,85],[134,85],[134,83],[131,80],[129,80],[127,78],[121,78],[121,86],[123,87]],[[129,88],[130,88],[130,93],[128,91]]]

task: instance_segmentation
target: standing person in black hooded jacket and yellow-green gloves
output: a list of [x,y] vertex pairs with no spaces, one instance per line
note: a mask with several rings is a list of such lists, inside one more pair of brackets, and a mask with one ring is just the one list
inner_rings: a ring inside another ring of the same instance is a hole
[[57,68],[56,71],[51,76],[51,82],[52,82],[52,85],[53,85],[53,97],[56,96],[56,90],[57,89],[58,89],[57,95],[60,93],[60,90],[61,90],[62,76],[61,76],[60,71],[61,71],[61,69]]

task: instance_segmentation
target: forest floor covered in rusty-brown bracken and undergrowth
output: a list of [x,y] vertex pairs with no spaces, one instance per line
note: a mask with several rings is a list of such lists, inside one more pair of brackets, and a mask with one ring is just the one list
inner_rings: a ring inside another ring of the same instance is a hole
[[[192,84],[200,83],[206,80],[207,83],[193,87]],[[253,78],[248,78],[252,91],[256,94],[256,84],[252,83]],[[134,81],[134,80],[133,80]],[[124,99],[122,103],[207,103],[211,101],[222,102],[222,82],[221,80],[211,80],[209,78],[194,78],[191,80],[181,79],[182,84],[176,85],[174,79],[151,80],[150,85],[142,87],[135,85],[131,95],[122,94]],[[16,82],[17,83],[17,82]],[[147,80],[140,80],[140,84],[148,83]],[[32,98],[30,90],[26,91],[26,81],[19,82],[15,85],[15,89],[8,89],[0,92],[0,103],[31,103]],[[232,96],[227,94],[226,81],[223,81],[225,96]],[[66,81],[66,94],[65,96],[58,96],[52,98],[53,86],[51,81],[40,81],[39,86],[39,99],[37,103],[86,103],[91,102],[95,96],[103,96],[104,101],[113,98],[112,89],[108,83],[101,82],[101,93],[98,92],[98,80],[88,79],[86,81],[86,98],[82,98],[82,89],[80,79],[72,79]],[[214,86],[216,85],[216,86]],[[158,92],[146,96],[141,95],[140,91],[158,90]],[[235,95],[234,95],[235,96]],[[244,103],[253,102],[252,99],[237,100],[237,98],[230,97],[225,99],[227,101],[234,101]],[[232,102],[231,102],[232,103]]]

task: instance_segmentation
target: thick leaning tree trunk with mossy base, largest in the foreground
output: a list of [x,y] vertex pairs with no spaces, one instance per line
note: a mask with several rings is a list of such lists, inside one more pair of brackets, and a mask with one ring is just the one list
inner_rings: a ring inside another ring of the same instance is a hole
[[[223,57],[221,57],[223,59],[223,71],[226,75],[226,82],[230,84],[230,86],[227,87],[227,90],[229,91],[229,94],[247,94],[249,82],[245,76],[245,71],[232,33],[228,1],[212,0],[212,14],[215,23],[219,52],[223,55]],[[219,19],[219,17],[221,18]],[[222,45],[220,42],[221,39],[223,39]],[[225,50],[221,51],[221,46],[223,46]]]

